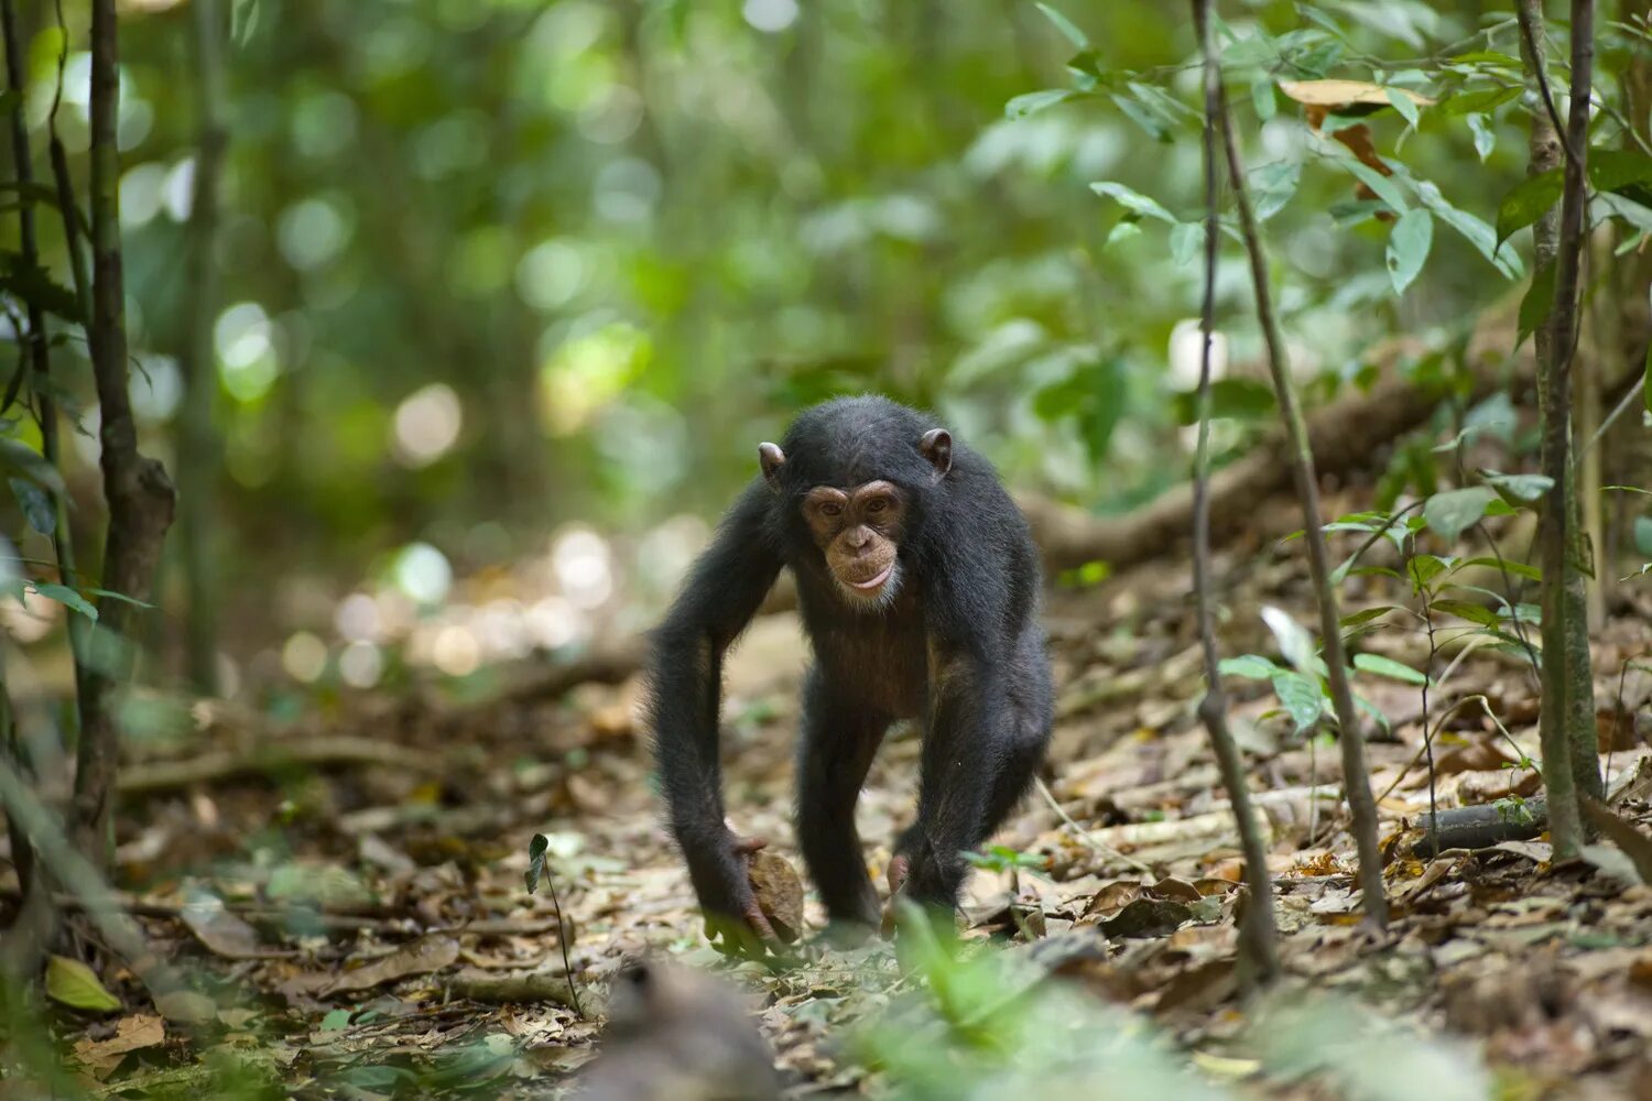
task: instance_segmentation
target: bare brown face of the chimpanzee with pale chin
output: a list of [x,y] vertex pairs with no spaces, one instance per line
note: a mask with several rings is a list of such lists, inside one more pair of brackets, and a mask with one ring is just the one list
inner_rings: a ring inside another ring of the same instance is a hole
[[877,480],[849,490],[816,485],[803,497],[803,518],[838,593],[854,606],[882,606],[900,588],[900,533],[905,495]]

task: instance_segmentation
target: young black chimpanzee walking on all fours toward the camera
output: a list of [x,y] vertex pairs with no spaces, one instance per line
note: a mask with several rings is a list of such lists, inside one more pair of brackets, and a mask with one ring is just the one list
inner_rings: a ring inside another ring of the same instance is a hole
[[884,731],[922,723],[917,820],[892,891],[957,906],[963,852],[1026,792],[1049,741],[1041,569],[991,464],[928,416],[879,396],[806,409],[724,517],[659,627],[648,711],[671,829],[705,928],[760,951],[773,931],[747,881],[760,839],[724,820],[717,721],[724,652],[781,566],[814,667],[803,685],[796,832],[839,929],[876,926],[854,804]]

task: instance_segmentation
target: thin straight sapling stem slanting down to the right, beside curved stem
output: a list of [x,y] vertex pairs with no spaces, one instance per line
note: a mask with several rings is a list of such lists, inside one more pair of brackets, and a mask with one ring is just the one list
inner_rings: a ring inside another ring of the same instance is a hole
[[1221,117],[1222,145],[1227,154],[1227,183],[1239,211],[1239,233],[1244,238],[1251,261],[1251,289],[1256,294],[1256,314],[1262,325],[1262,342],[1267,345],[1267,368],[1274,378],[1274,393],[1285,419],[1290,439],[1290,464],[1297,482],[1297,500],[1302,502],[1303,535],[1308,543],[1308,568],[1313,574],[1313,591],[1320,604],[1320,642],[1325,652],[1327,680],[1332,688],[1332,706],[1336,711],[1336,741],[1341,746],[1343,789],[1348,794],[1348,812],[1353,819],[1353,839],[1360,850],[1360,893],[1365,916],[1374,928],[1388,926],[1388,895],[1383,890],[1383,853],[1376,842],[1376,799],[1371,797],[1371,776],[1365,764],[1365,736],[1360,731],[1360,715],[1353,706],[1353,688],[1348,685],[1348,662],[1343,654],[1341,624],[1336,612],[1336,589],[1332,586],[1330,555],[1325,548],[1325,532],[1320,530],[1320,487],[1313,472],[1313,449],[1308,446],[1308,426],[1297,401],[1295,383],[1285,361],[1285,340],[1274,314],[1274,297],[1267,282],[1267,256],[1251,210],[1251,195],[1244,183],[1244,160],[1239,157],[1239,139],[1234,135],[1227,111],[1227,94],[1218,83],[1218,114]]

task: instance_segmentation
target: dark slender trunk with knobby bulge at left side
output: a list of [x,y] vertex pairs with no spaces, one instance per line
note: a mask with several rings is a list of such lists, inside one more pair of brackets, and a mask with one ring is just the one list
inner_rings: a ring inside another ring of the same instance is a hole
[[[172,525],[173,495],[165,469],[137,451],[137,423],[127,393],[126,297],[121,272],[121,162],[116,125],[121,101],[116,0],[93,0],[91,79],[91,327],[93,380],[97,386],[104,500],[102,588],[145,599]],[[73,837],[81,853],[104,867],[109,850],[109,796],[119,759],[114,687],[132,669],[135,606],[99,601],[96,644],[79,655],[81,741],[76,754]]]

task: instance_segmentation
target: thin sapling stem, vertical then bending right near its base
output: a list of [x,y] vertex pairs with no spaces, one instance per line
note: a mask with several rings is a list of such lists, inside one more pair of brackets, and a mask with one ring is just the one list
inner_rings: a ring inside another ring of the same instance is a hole
[[1227,693],[1216,650],[1211,581],[1211,340],[1216,319],[1216,256],[1221,226],[1216,216],[1218,154],[1216,116],[1221,106],[1221,66],[1211,43],[1211,0],[1193,0],[1193,25],[1204,59],[1204,287],[1199,300],[1199,444],[1193,459],[1193,591],[1199,601],[1199,644],[1204,650],[1204,698],[1199,718],[1211,735],[1216,763],[1232,804],[1244,852],[1244,880],[1251,895],[1239,929],[1246,959],[1259,984],[1279,976],[1279,933],[1274,926],[1274,885],[1267,873],[1267,848],[1251,807],[1244,758],[1227,728]]

